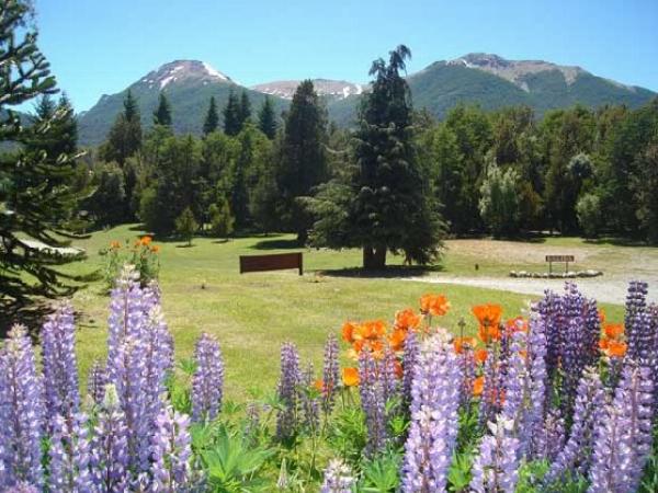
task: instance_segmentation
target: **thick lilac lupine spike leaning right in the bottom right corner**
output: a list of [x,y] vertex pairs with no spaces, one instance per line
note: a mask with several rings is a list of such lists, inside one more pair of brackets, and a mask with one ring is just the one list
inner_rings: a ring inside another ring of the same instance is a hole
[[598,423],[588,492],[637,490],[651,451],[653,392],[649,369],[628,360],[614,400]]

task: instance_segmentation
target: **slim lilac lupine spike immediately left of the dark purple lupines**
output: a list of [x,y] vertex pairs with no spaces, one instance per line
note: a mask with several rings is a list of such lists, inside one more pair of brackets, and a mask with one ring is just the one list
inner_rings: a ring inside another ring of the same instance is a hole
[[[527,334],[527,371],[530,374],[530,410],[525,424],[530,439],[530,455],[536,457],[536,436],[542,433],[544,414],[548,408],[551,386],[546,371],[546,332],[544,319],[535,311],[530,317]],[[527,451],[527,450],[526,450]]]

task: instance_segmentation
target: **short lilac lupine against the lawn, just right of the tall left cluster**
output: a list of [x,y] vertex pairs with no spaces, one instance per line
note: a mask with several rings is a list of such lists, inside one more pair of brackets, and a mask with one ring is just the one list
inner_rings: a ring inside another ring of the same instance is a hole
[[192,419],[212,421],[222,409],[224,359],[214,335],[203,333],[194,347],[196,370],[192,377]]

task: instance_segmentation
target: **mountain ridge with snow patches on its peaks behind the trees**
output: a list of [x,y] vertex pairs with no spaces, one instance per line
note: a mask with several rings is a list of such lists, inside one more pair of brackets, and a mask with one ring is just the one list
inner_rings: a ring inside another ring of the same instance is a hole
[[[329,118],[341,126],[353,124],[366,83],[313,79],[322,96]],[[415,106],[426,107],[442,118],[458,103],[478,104],[484,110],[525,104],[537,116],[548,110],[580,103],[597,107],[626,104],[637,107],[656,92],[594,76],[581,67],[561,66],[544,60],[510,60],[499,55],[470,53],[452,60],[430,64],[407,76]],[[211,96],[219,107],[230,91],[246,91],[254,114],[262,101],[271,98],[280,114],[288,105],[299,81],[271,81],[246,88],[228,74],[201,60],[178,59],[161,65],[115,94],[103,94],[87,112],[78,114],[80,142],[98,145],[104,140],[131,90],[139,102],[143,124],[152,125],[152,112],[162,91],[172,107],[173,128],[179,134],[202,131]]]

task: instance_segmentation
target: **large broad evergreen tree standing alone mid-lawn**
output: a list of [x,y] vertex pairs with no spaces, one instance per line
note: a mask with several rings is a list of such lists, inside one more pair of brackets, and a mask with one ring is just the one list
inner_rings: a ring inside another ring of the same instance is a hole
[[355,134],[355,165],[307,200],[317,215],[314,240],[328,246],[361,246],[363,266],[382,268],[386,253],[407,262],[438,257],[443,223],[412,145],[411,96],[400,71],[406,46],[376,60],[372,91],[364,98]]

